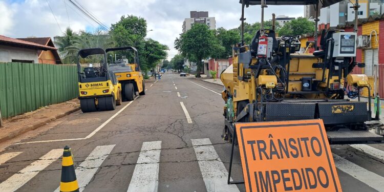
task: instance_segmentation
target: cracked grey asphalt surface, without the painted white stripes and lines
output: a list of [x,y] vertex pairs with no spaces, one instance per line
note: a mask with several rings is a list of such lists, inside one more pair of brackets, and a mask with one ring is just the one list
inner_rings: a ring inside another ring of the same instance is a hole
[[[221,139],[223,100],[194,83],[220,93],[222,87],[191,77],[164,74],[162,79],[146,84],[146,95],[106,124],[89,139],[55,141],[45,143],[15,144],[18,142],[84,138],[118,112],[75,112],[50,125],[0,144],[4,153],[23,152],[0,165],[0,183],[38,160],[49,151],[69,145],[72,148],[75,168],[83,162],[95,147],[116,145],[98,167],[83,191],[126,191],[133,176],[143,142],[162,141],[159,162],[158,191],[207,191],[191,139],[208,138],[226,169],[229,167],[231,145]],[[174,83],[177,90],[175,89]],[[177,92],[180,93],[178,97]],[[180,106],[183,102],[193,121],[188,123]],[[383,144],[369,144],[384,151]],[[334,154],[384,177],[384,160],[372,157],[349,145],[332,145]],[[100,158],[100,157],[99,157]],[[104,157],[105,158],[105,157]],[[91,158],[92,159],[92,158]],[[96,160],[96,159],[93,159]],[[219,161],[211,159],[209,161]],[[94,167],[86,167],[94,168]],[[233,180],[242,180],[239,151],[235,150]],[[344,191],[377,191],[354,176],[337,169]],[[17,191],[53,191],[59,186],[61,157],[41,170]],[[384,182],[384,181],[383,181]],[[245,191],[242,184],[237,185]],[[384,190],[384,189],[383,189]]]

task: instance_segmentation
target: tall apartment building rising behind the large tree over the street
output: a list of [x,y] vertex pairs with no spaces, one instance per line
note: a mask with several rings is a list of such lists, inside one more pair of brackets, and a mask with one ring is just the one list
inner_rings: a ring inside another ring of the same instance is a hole
[[208,11],[191,11],[190,18],[185,18],[183,22],[183,33],[188,31],[195,23],[205,24],[209,29],[216,29],[215,17],[209,17]]

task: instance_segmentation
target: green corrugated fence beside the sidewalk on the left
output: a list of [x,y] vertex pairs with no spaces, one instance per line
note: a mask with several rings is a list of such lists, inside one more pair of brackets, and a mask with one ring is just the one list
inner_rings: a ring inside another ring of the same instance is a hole
[[73,65],[0,62],[0,108],[3,118],[78,97]]

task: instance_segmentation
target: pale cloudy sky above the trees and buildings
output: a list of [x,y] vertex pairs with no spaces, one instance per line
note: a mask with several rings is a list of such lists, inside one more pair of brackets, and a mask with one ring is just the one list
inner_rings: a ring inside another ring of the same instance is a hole
[[[147,29],[153,30],[148,32],[147,37],[167,45],[170,48],[169,59],[177,54],[174,49],[174,40],[182,32],[183,20],[189,17],[189,11],[208,11],[210,17],[216,17],[217,28],[231,29],[240,25],[239,0],[76,1],[108,27],[116,23],[121,15],[133,14],[145,18]],[[260,22],[260,10],[260,6],[247,8],[246,22]],[[266,19],[270,19],[272,13],[299,17],[304,15],[304,7],[269,6],[265,11]],[[0,35],[13,38],[53,37],[61,35],[61,31],[68,26],[74,31],[92,31],[98,27],[96,23],[81,14],[69,0],[0,0]]]

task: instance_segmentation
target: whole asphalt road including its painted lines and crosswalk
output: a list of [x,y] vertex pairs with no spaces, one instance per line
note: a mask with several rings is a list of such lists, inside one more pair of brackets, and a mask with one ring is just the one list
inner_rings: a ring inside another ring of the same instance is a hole
[[[69,145],[80,191],[245,191],[227,185],[222,87],[177,74],[115,111],[76,112],[0,153],[0,191],[55,191]],[[344,191],[384,191],[384,144],[332,145]],[[233,180],[241,180],[239,151]],[[56,190],[57,191],[57,190]]]

